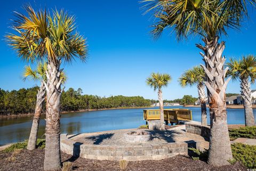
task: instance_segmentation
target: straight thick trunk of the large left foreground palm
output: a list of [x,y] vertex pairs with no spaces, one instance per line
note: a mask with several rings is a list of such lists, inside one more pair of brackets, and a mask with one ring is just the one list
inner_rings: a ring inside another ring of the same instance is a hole
[[60,158],[60,64],[51,58],[47,63],[46,86],[46,127],[44,170],[58,170]]

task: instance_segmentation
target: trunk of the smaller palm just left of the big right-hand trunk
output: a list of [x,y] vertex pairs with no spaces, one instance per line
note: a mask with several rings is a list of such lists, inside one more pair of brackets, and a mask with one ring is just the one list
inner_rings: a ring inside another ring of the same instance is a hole
[[203,83],[197,85],[199,101],[201,104],[201,124],[207,125],[206,99]]

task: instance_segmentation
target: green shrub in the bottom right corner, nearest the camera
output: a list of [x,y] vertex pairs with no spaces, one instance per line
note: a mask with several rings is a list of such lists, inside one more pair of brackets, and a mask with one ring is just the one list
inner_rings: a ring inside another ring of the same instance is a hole
[[[256,169],[256,145],[231,144],[233,158],[250,169]],[[234,162],[234,161],[232,161]]]

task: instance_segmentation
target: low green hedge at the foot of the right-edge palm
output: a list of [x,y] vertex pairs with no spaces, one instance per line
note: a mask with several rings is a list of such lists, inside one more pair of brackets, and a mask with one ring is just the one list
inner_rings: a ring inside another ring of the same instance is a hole
[[239,137],[256,139],[256,126],[241,127],[238,129],[229,129],[230,140],[236,140]]

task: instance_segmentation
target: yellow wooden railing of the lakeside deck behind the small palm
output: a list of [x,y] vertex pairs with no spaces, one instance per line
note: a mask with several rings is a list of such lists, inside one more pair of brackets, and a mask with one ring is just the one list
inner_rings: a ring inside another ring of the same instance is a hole
[[[160,110],[143,110],[144,120],[159,120]],[[178,123],[179,120],[192,120],[192,111],[188,109],[164,109],[164,120],[168,123]]]

